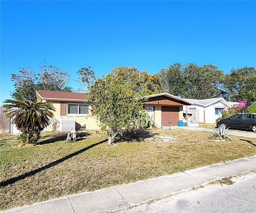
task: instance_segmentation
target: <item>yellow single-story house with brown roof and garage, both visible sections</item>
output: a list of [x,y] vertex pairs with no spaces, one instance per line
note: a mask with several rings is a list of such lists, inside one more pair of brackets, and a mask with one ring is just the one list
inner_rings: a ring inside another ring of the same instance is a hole
[[[86,93],[36,91],[38,102],[51,101],[55,107],[53,120],[61,121],[61,118],[75,118],[77,129],[99,129],[97,120],[91,112],[91,106],[87,104]],[[145,109],[154,120],[158,128],[177,126],[177,122],[183,119],[183,106],[190,105],[189,101],[180,99],[169,93],[159,93],[145,96]],[[47,128],[52,130],[52,126]]]

